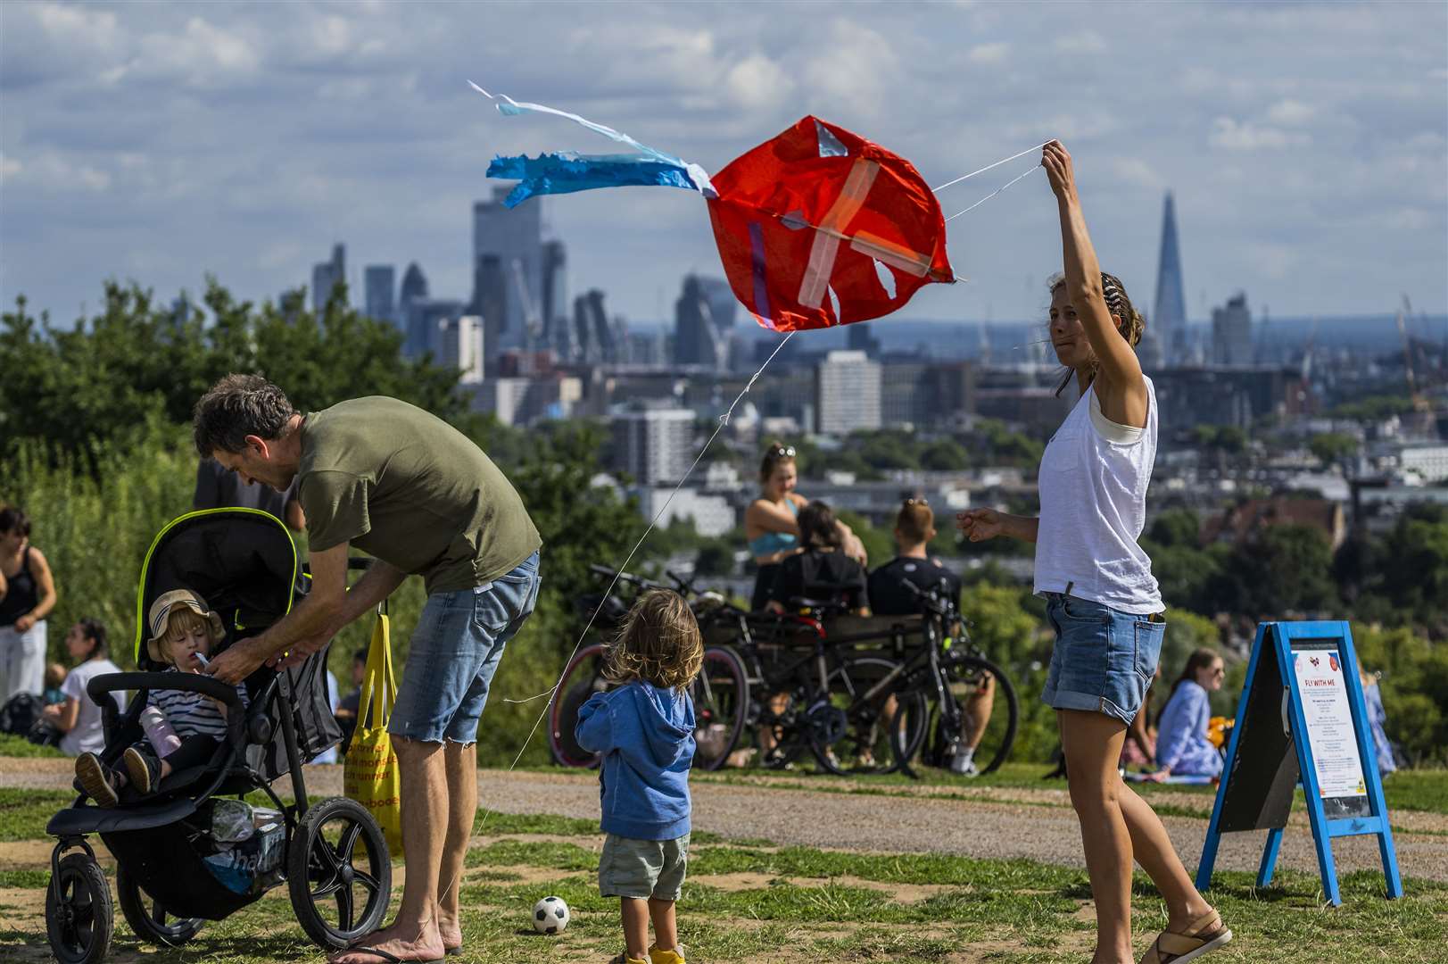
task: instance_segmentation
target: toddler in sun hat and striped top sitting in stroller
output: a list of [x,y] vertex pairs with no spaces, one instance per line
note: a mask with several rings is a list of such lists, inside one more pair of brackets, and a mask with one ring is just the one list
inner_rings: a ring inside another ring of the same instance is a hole
[[[146,651],[153,662],[171,665],[167,673],[197,673],[211,647],[226,641],[222,618],[188,589],[159,596],[146,622],[151,626]],[[237,686],[236,694],[245,707],[246,687]],[[226,739],[226,703],[214,697],[156,687],[146,703],[139,719],[146,739],[122,754],[125,773],[107,767],[93,752],[75,758],[81,789],[101,806],[116,806],[127,783],[140,794],[152,793],[177,770],[203,765]]]

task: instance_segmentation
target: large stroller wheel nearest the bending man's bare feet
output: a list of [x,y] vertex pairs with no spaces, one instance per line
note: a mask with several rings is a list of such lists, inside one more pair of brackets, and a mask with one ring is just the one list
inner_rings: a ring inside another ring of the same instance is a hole
[[324,948],[345,948],[381,926],[392,863],[365,806],[327,797],[307,807],[287,847],[287,887],[301,929]]

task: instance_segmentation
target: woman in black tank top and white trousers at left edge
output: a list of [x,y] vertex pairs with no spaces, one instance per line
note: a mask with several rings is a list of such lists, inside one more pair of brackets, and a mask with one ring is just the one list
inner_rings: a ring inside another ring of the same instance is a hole
[[0,509],[0,705],[45,689],[45,618],[55,581],[45,554],[30,545],[30,519]]

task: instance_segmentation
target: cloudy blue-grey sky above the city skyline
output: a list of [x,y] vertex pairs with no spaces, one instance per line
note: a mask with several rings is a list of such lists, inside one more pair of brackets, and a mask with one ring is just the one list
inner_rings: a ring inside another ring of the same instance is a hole
[[[107,277],[159,296],[206,273],[251,299],[345,241],[469,293],[494,154],[613,145],[472,93],[582,113],[718,171],[805,113],[931,184],[1061,138],[1102,265],[1150,309],[1166,190],[1187,312],[1448,310],[1448,6],[0,4],[0,299],[70,323]],[[1034,164],[943,193],[953,213]],[[537,203],[537,201],[530,201]],[[672,312],[717,271],[704,203],[546,199],[571,286]],[[911,317],[1037,317],[1060,264],[1041,173],[950,225],[961,286]]]

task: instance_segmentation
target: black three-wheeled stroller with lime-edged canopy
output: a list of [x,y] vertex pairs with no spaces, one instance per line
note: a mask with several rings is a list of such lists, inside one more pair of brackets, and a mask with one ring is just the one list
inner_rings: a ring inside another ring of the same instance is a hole
[[[81,793],[51,819],[46,834],[59,842],[45,925],[56,960],[91,964],[110,947],[110,887],[87,834],[100,834],[114,855],[122,913],[151,944],[185,944],[204,921],[222,921],[284,881],[301,928],[324,948],[346,947],[381,925],[392,865],[376,820],[346,797],[307,803],[301,764],[340,739],[327,700],[326,649],[284,671],[256,670],[246,680],[243,709],[235,687],[207,676],[162,676],[140,645],[143,613],[172,589],[195,590],[222,615],[224,648],[281,619],[306,584],[291,535],[264,512],[193,512],[151,544],[136,600],[136,665],[143,671],[96,677],[87,687],[101,706],[101,760],[114,765],[142,738],[138,719],[149,687],[222,700],[227,735],[206,765],[171,774],[145,799],[122,790],[120,805],[106,809]],[[133,691],[126,712],[111,697],[116,690]],[[284,774],[291,774],[292,805],[271,787]],[[255,796],[240,800],[253,791],[269,806],[253,806]]]

